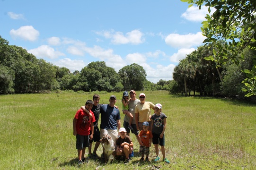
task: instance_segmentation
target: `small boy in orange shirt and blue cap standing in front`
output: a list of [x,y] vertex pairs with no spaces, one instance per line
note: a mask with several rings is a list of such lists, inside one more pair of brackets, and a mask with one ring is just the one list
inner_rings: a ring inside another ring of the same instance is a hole
[[150,126],[149,122],[147,121],[143,122],[142,123],[143,130],[141,130],[139,135],[142,143],[140,144],[141,161],[144,161],[144,154],[146,154],[145,161],[149,161],[150,146],[153,138],[153,135],[149,130],[149,126]]

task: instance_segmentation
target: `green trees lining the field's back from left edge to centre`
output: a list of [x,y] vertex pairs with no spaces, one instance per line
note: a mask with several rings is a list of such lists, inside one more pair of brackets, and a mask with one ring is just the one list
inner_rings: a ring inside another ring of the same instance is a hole
[[0,36],[0,93],[36,93],[54,90],[123,91],[168,90],[168,83],[154,84],[146,79],[146,71],[138,64],[121,68],[117,73],[105,61],[89,63],[73,73],[37,59],[25,49],[9,45]]

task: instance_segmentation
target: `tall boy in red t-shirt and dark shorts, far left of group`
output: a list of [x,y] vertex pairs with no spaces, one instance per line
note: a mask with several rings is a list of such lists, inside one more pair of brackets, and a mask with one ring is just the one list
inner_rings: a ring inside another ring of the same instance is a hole
[[90,114],[87,112],[79,109],[73,119],[73,135],[76,136],[76,149],[79,165],[85,161],[85,148],[89,147],[89,140],[93,138],[93,122],[95,122],[95,117],[91,111],[92,106],[92,100],[86,101],[85,107],[89,110],[92,117],[90,117]]

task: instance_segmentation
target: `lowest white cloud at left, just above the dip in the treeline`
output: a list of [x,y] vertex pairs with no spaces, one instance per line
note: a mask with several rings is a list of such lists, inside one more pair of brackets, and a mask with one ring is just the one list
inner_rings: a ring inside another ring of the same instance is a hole
[[54,65],[59,67],[65,67],[69,68],[71,72],[74,72],[76,70],[81,71],[82,68],[84,68],[87,64],[84,63],[82,59],[60,59],[58,61],[53,62]]

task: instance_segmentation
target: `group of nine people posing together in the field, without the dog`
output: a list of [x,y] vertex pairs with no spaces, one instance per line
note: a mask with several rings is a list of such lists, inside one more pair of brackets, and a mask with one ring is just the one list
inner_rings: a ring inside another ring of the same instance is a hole
[[[130,132],[136,136],[140,144],[141,161],[149,161],[150,146],[153,143],[156,152],[154,161],[160,160],[160,145],[163,161],[170,162],[165,156],[164,147],[167,116],[162,113],[161,104],[154,105],[152,102],[146,102],[144,93],[140,93],[139,99],[137,99],[134,90],[131,90],[129,94],[124,92],[122,98],[122,111],[125,114],[124,127],[121,127],[120,111],[115,106],[116,96],[110,96],[109,104],[99,104],[99,100],[99,95],[93,95],[93,100],[88,100],[85,106],[81,106],[73,119],[73,135],[76,136],[78,164],[86,161],[84,157],[86,147],[88,147],[89,158],[99,158],[96,153],[100,145],[99,140],[106,134],[109,134],[115,142],[116,155],[124,156],[124,162],[129,162],[129,155],[131,156],[133,153]],[[151,115],[151,109],[154,110],[153,115]],[[100,129],[98,128],[99,114],[101,114]],[[93,142],[95,142],[95,146],[92,152]],[[144,155],[146,155],[145,159]]]

